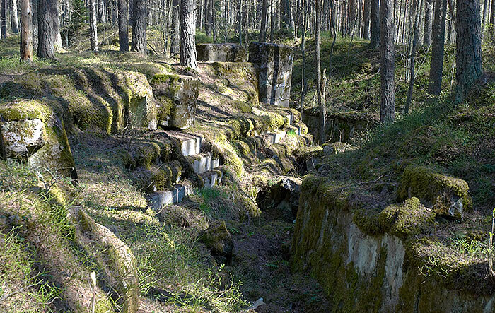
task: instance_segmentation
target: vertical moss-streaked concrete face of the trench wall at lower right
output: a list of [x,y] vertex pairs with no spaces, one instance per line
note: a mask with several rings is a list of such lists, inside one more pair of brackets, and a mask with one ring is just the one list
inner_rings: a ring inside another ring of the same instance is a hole
[[495,295],[449,290],[423,276],[399,237],[367,235],[351,211],[310,191],[303,184],[292,266],[322,285],[328,312],[494,312]]

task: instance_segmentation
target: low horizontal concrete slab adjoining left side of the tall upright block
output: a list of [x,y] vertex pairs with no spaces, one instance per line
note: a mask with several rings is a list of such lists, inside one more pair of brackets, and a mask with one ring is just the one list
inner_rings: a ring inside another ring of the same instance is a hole
[[218,62],[247,62],[248,51],[240,46],[231,43],[225,44],[197,44],[198,61],[218,61]]

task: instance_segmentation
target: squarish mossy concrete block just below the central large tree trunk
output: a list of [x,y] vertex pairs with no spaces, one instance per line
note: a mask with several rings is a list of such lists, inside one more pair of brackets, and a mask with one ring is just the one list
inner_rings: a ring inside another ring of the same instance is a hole
[[199,81],[190,76],[156,74],[151,81],[158,105],[158,124],[186,129],[194,124]]

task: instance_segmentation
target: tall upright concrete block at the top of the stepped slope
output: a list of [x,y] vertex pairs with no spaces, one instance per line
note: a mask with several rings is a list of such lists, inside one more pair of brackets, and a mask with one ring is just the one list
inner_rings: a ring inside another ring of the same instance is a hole
[[293,60],[291,47],[251,42],[249,61],[259,68],[258,92],[261,102],[289,107]]

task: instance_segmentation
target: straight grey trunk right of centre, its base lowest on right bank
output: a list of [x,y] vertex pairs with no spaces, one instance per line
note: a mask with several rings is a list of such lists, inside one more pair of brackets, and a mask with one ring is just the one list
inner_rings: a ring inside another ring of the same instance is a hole
[[390,122],[395,119],[395,49],[394,49],[394,4],[393,0],[380,1],[380,122]]

